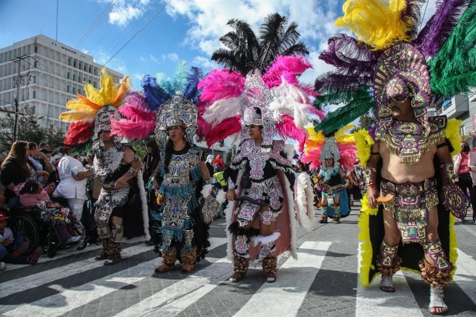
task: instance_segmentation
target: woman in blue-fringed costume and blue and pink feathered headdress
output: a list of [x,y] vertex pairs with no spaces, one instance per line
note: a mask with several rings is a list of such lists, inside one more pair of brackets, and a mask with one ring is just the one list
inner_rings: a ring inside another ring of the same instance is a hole
[[203,152],[193,145],[201,76],[196,67],[187,72],[185,62],[179,63],[173,81],[161,73],[157,78],[144,76],[143,96],[127,96],[121,112],[125,119],[113,121],[112,133],[131,139],[154,133],[161,147],[162,161],[155,171],[161,182],[158,208],[151,212],[161,236],[158,274],[175,269],[177,260],[183,263],[182,273],[191,272],[210,246],[208,225],[201,221],[199,209],[201,196],[209,197],[210,175]]

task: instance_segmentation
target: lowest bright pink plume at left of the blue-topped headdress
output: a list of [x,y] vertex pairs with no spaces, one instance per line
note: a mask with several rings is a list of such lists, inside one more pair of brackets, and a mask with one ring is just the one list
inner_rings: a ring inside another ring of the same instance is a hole
[[116,120],[111,118],[111,135],[123,138],[140,140],[154,133],[155,120],[131,121],[126,119]]

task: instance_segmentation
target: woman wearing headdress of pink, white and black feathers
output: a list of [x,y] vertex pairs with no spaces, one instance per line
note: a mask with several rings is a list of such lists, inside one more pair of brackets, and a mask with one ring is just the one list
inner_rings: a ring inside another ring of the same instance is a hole
[[[234,51],[220,49],[212,55],[228,69],[214,69],[199,83],[203,102],[199,132],[207,144],[232,135],[240,137],[238,153],[225,173],[231,201],[227,224],[229,257],[234,262],[232,282],[241,280],[250,261],[256,260],[266,281],[272,283],[278,258],[296,257],[294,171],[284,157],[284,141],[273,137],[295,139],[302,151],[309,114],[322,113],[310,104],[312,90],[297,80],[311,65],[301,56],[292,56],[307,50],[296,43],[295,23],[284,34],[286,21],[279,14],[268,16],[268,28],[257,39],[245,22],[231,20],[229,25],[237,32],[228,33],[222,42]],[[281,41],[283,37],[287,40]]]

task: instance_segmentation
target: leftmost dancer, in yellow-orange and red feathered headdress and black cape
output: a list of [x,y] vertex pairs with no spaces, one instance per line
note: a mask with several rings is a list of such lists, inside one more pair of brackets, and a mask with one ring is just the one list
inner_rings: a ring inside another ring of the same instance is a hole
[[101,193],[96,202],[94,218],[103,249],[96,260],[104,265],[120,261],[122,237],[132,238],[145,234],[150,239],[141,161],[134,149],[124,146],[120,138],[111,134],[111,120],[120,117],[118,109],[129,91],[126,77],[117,85],[113,76],[101,70],[100,90],[84,85],[86,96],[78,94],[66,104],[70,111],[60,114],[62,121],[72,122],[64,141],[67,145],[91,147],[94,161],[91,169],[78,173],[78,177],[97,177]]

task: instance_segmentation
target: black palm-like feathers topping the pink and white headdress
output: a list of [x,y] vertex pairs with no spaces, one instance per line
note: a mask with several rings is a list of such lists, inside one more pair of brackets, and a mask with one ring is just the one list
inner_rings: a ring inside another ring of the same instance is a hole
[[234,31],[220,38],[227,49],[218,49],[212,54],[212,60],[230,70],[246,75],[250,70],[265,72],[279,55],[307,55],[306,46],[298,41],[297,23],[278,13],[268,15],[259,29],[259,37],[251,26],[237,19],[227,25]]

